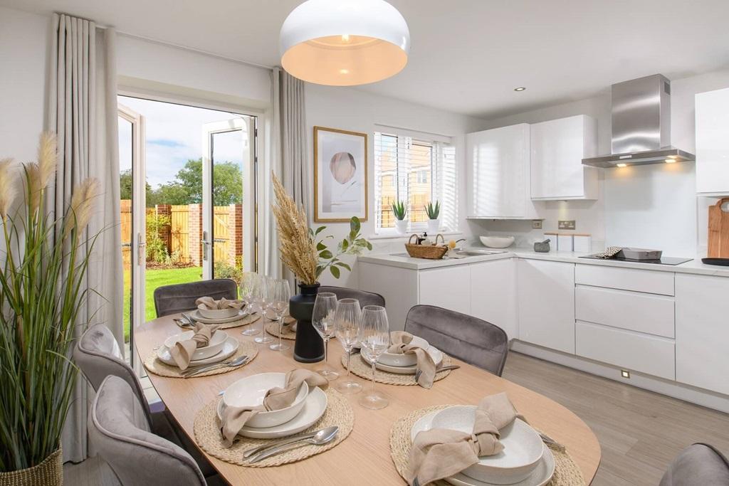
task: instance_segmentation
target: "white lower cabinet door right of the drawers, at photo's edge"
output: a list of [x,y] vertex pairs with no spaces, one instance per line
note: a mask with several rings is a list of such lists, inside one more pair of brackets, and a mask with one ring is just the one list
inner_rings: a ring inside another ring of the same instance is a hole
[[676,380],[729,394],[729,278],[676,275]]

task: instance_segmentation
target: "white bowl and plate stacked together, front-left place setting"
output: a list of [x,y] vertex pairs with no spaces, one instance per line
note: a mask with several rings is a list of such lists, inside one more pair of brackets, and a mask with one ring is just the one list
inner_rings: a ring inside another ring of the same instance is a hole
[[[218,402],[218,419],[222,420],[225,407],[257,407],[263,404],[266,392],[284,387],[286,373],[261,373],[241,378],[225,389]],[[253,439],[276,439],[297,434],[316,423],[327,410],[327,394],[319,387],[312,390],[304,382],[289,407],[258,412],[238,432]]]

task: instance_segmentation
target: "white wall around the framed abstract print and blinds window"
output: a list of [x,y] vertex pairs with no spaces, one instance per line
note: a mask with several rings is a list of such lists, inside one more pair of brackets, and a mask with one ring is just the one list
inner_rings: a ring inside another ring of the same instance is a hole
[[[309,187],[313,188],[313,127],[340,128],[355,132],[364,132],[369,135],[367,146],[369,215],[367,222],[362,224],[362,235],[369,238],[375,232],[375,176],[374,176],[374,142],[373,133],[383,130],[378,125],[408,128],[426,133],[436,133],[445,136],[454,136],[458,157],[459,187],[462,188],[459,197],[459,230],[468,232],[466,215],[466,187],[464,154],[464,133],[480,130],[484,121],[464,115],[448,113],[425,106],[406,103],[394,98],[364,93],[352,88],[326,87],[320,85],[306,86],[306,124],[308,126],[308,147],[310,157],[311,181]],[[376,125],[378,124],[378,125]],[[313,199],[313,190],[312,190]],[[313,200],[311,201],[313,207]],[[325,234],[335,235],[338,241],[348,232],[348,224],[330,223]],[[375,251],[405,251],[402,238],[389,240],[371,240]],[[356,265],[351,274],[342,275],[339,280],[326,275],[322,283],[357,287]]]

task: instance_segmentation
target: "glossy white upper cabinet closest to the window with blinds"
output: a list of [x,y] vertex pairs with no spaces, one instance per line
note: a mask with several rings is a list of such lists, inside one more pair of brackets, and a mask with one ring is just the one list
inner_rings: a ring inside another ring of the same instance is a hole
[[537,219],[529,190],[529,124],[466,136],[468,216]]

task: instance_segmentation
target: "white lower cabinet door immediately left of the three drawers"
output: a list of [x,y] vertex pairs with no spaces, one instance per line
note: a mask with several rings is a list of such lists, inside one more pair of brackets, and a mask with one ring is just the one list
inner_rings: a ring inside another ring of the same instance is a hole
[[574,264],[518,259],[519,339],[574,354]]

